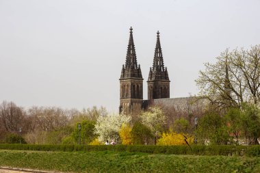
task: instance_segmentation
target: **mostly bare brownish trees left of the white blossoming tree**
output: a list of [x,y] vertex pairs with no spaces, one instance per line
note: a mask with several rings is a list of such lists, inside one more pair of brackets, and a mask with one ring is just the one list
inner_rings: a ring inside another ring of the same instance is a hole
[[29,144],[62,144],[62,139],[73,132],[84,120],[96,121],[107,115],[105,107],[79,111],[59,107],[30,107],[24,109],[13,102],[0,105],[0,142]]

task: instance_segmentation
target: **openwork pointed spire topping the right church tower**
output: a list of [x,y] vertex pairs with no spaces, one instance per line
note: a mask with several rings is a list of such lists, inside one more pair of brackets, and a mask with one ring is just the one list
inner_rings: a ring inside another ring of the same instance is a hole
[[155,56],[153,58],[153,71],[164,72],[164,58],[161,52],[159,31],[157,31],[157,41],[155,46]]

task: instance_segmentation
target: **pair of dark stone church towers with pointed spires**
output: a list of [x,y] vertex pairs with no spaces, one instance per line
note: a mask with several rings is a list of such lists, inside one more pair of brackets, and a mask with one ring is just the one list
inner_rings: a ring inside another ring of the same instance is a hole
[[[140,64],[137,62],[135,44],[133,42],[133,29],[130,28],[127,57],[122,65],[120,76],[120,106],[119,112],[125,114],[138,114],[142,109],[162,98],[170,98],[170,80],[167,67],[164,66],[164,58],[161,52],[159,31],[155,45],[153,66],[148,72],[148,99],[143,99],[143,78]],[[174,99],[174,98],[173,98]],[[165,100],[165,99],[164,99]],[[166,99],[167,100],[167,99]]]

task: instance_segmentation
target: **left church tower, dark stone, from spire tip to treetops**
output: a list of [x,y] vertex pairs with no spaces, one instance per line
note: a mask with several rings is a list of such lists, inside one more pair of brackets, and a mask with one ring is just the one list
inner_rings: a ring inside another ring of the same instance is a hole
[[142,72],[138,65],[133,43],[133,29],[130,28],[129,44],[127,47],[127,59],[122,65],[120,81],[120,106],[119,112],[137,114],[142,110],[143,88]]

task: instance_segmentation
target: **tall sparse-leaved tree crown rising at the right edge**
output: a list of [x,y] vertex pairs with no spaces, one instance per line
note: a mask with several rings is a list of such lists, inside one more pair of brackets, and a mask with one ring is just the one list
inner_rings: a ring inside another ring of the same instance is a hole
[[200,96],[221,107],[240,107],[244,102],[260,101],[260,44],[250,50],[229,51],[206,63],[196,80]]

